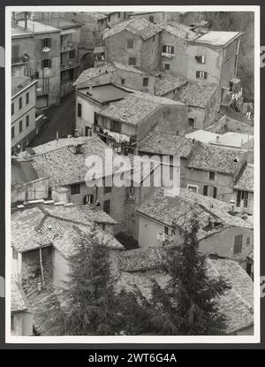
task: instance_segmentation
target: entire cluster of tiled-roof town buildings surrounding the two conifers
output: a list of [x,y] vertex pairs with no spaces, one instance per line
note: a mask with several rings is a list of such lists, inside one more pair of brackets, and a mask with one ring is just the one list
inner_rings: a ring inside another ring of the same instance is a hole
[[215,297],[222,333],[254,335],[243,36],[212,30],[202,11],[12,13],[11,335],[62,334],[72,261],[95,242],[113,292],[150,306],[154,282],[172,284],[167,248],[185,248],[194,216],[207,277],[228,285]]

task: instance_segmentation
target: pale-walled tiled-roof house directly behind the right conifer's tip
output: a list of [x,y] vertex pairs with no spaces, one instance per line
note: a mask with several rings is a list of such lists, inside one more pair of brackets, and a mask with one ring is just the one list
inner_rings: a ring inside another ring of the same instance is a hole
[[183,234],[196,214],[201,252],[232,258],[246,268],[246,256],[254,243],[253,221],[232,211],[229,204],[184,188],[177,194],[160,188],[137,212],[140,248],[162,247],[170,242],[182,244]]

